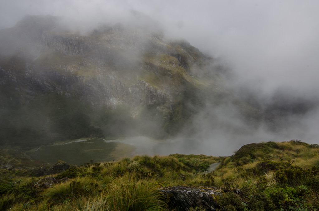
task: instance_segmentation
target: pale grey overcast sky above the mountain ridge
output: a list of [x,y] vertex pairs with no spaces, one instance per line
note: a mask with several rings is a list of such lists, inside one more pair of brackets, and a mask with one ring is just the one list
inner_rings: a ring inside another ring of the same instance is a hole
[[159,21],[239,73],[238,83],[298,94],[319,90],[319,1],[0,0],[0,28],[26,14],[51,14],[83,25],[123,20],[131,9]]

